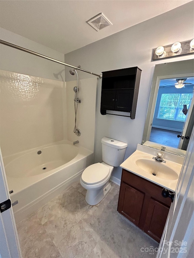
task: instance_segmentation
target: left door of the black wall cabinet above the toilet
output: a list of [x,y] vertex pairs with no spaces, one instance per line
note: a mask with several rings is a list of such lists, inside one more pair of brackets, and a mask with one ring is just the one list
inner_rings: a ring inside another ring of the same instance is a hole
[[116,90],[102,90],[101,108],[102,109],[115,109]]

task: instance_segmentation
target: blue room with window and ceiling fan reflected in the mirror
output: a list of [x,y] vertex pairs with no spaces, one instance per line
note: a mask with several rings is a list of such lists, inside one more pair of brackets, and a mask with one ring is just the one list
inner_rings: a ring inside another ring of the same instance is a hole
[[182,130],[191,116],[193,85],[194,77],[160,80],[150,142],[183,149]]

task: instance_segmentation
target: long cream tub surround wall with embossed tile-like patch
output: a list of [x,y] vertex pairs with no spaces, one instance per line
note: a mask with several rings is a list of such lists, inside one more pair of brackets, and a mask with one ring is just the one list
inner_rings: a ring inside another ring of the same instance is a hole
[[0,82],[4,157],[67,139],[63,82],[4,70]]

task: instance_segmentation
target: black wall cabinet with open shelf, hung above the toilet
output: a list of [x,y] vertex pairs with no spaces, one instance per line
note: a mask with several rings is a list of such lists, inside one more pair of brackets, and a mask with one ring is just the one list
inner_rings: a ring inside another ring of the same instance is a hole
[[130,112],[131,119],[135,119],[141,72],[139,67],[102,72],[102,115],[114,110]]

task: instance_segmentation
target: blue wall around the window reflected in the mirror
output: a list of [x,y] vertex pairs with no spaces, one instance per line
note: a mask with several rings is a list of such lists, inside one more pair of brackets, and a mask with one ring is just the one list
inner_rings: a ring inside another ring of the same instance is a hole
[[190,86],[187,85],[185,88],[181,88],[181,89],[177,89],[176,87],[165,87],[165,88],[159,87],[152,127],[159,127],[159,128],[164,127],[164,128],[169,128],[169,130],[175,129],[175,131],[182,132],[182,127],[184,122],[172,121],[172,120],[166,120],[166,119],[157,119],[158,110],[160,106],[160,99],[163,93],[192,93],[192,92],[193,92],[193,86],[191,85]]

